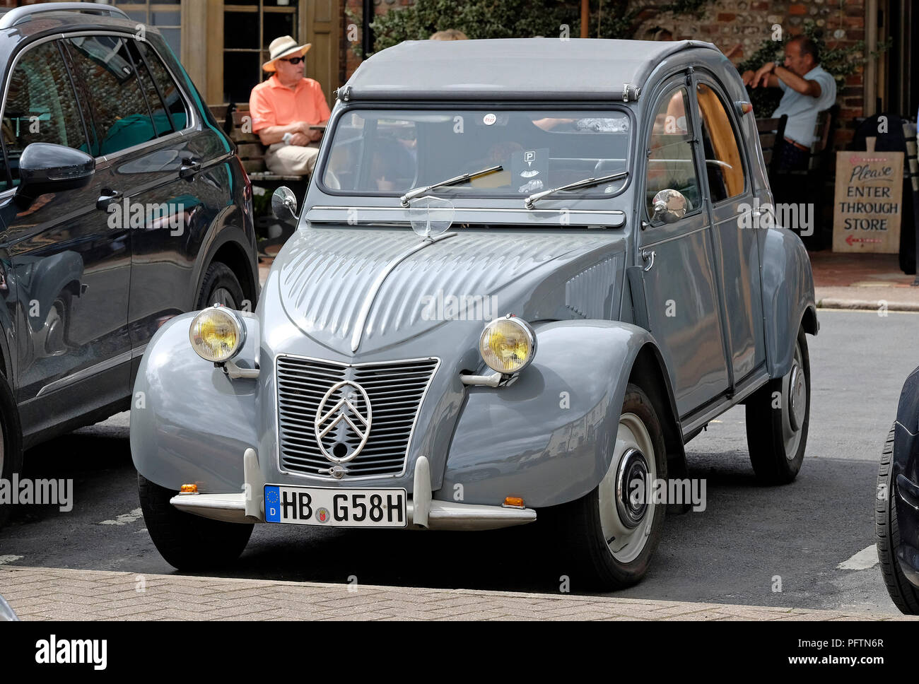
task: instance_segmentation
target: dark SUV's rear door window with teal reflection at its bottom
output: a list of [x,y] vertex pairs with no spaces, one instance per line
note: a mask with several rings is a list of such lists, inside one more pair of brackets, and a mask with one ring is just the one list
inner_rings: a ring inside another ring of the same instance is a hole
[[148,106],[130,55],[129,39],[83,36],[66,42],[92,105],[96,156],[153,140],[158,130],[169,126],[165,112],[154,117]]

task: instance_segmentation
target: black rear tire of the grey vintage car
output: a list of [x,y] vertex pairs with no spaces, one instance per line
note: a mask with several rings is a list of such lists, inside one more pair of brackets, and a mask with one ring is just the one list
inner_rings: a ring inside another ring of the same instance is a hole
[[[789,386],[794,370],[789,371],[787,376],[770,380],[746,401],[750,463],[753,464],[756,478],[764,485],[787,485],[798,477],[801,464],[804,462],[808,425],[811,421],[811,356],[808,353],[803,328],[798,331],[797,344],[800,349],[798,373],[803,373],[805,384],[804,413],[803,419],[797,419],[798,429],[794,430],[794,422],[790,417],[793,409],[789,398]],[[797,353],[793,363],[798,363]],[[797,403],[795,405],[797,406]],[[791,449],[786,443],[789,430],[793,435],[800,433],[797,447]]]

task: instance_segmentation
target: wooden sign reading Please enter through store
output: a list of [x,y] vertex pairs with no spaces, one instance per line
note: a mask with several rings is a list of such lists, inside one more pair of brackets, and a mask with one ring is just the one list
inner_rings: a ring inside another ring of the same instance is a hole
[[836,152],[836,188],[833,204],[833,251],[900,252],[903,209],[903,153]]

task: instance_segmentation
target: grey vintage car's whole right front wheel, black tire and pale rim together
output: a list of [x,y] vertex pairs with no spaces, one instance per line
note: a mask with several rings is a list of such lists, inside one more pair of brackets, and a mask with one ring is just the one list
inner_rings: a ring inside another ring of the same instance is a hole
[[630,383],[600,484],[581,499],[540,513],[573,587],[623,589],[644,577],[666,512],[666,503],[648,494],[655,479],[666,477],[661,421],[641,387]]

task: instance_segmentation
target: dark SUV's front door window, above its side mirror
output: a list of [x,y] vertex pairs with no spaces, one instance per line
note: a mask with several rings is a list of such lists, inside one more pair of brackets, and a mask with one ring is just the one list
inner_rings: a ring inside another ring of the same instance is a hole
[[32,142],[88,151],[74,86],[56,41],[26,50],[10,73],[3,136],[13,185],[19,177],[19,157]]

